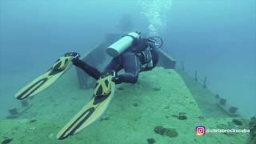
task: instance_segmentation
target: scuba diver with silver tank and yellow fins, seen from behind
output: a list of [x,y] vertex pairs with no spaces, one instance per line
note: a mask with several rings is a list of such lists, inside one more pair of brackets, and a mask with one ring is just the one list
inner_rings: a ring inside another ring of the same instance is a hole
[[[158,64],[158,53],[161,46],[162,38],[160,37],[141,38],[138,32],[126,34],[106,49],[106,53],[113,58],[102,73],[94,66],[83,62],[78,53],[66,53],[58,58],[46,73],[19,90],[15,94],[15,98],[23,100],[46,90],[72,65],[78,66],[86,74],[95,78],[97,82],[90,102],[57,134],[59,140],[68,138],[86,126],[90,126],[102,116],[111,98],[114,97],[115,84],[136,83],[140,72],[152,70]],[[122,69],[125,70],[125,73],[117,74]]]

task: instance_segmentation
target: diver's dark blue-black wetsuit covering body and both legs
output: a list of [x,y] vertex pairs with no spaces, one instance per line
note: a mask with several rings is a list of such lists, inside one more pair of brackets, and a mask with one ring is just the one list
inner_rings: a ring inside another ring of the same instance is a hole
[[[141,38],[134,46],[130,46],[126,51],[115,57],[106,66],[106,71],[114,70],[116,73],[124,69],[124,74],[116,74],[114,78],[115,83],[136,83],[138,82],[138,75],[141,71],[152,70],[158,63],[158,50],[153,42],[148,42],[147,38]],[[149,53],[150,51],[150,53]],[[147,57],[150,57],[147,58]],[[151,62],[151,65],[148,65]],[[74,58],[75,66],[80,67],[91,77],[98,79],[101,73],[93,66],[88,65],[79,58]]]

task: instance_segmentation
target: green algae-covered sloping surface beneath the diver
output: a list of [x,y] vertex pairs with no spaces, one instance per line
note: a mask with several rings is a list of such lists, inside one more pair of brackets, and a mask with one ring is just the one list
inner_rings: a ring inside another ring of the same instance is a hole
[[[249,134],[195,134],[207,129],[248,129],[248,120],[202,110],[182,77],[158,67],[140,75],[137,84],[117,86],[102,118],[84,130],[58,140],[62,126],[89,102],[93,90],[80,90],[72,68],[49,89],[29,99],[18,118],[0,120],[2,143],[246,143]],[[210,115],[212,115],[210,117]]]

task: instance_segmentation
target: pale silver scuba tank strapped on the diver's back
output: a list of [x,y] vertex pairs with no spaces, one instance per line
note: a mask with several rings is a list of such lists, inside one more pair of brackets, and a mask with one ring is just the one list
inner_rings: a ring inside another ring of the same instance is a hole
[[112,45],[106,48],[106,53],[111,57],[117,57],[119,54],[122,54],[127,48],[132,46],[136,40],[141,38],[140,33],[131,32],[124,35],[122,38],[118,39],[117,42],[114,42]]

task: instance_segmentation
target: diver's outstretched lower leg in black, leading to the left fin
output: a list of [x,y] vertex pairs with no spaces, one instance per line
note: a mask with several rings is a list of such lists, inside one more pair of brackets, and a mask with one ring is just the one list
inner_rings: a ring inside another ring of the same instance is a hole
[[72,62],[74,66],[78,66],[84,72],[86,72],[86,74],[89,74],[91,77],[95,78],[96,80],[98,80],[98,78],[101,76],[101,73],[96,68],[88,65],[86,62],[83,62],[79,58],[74,58]]

